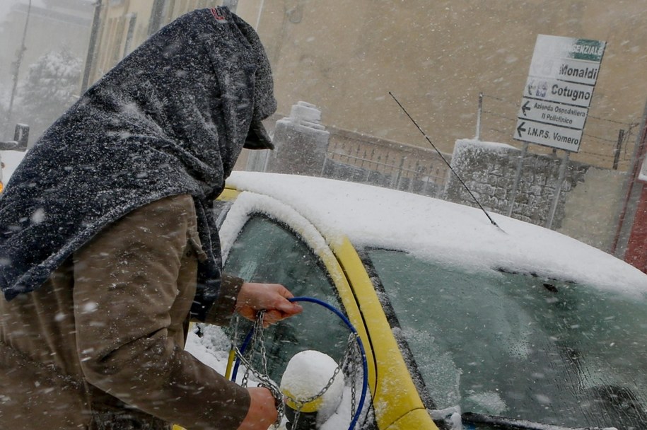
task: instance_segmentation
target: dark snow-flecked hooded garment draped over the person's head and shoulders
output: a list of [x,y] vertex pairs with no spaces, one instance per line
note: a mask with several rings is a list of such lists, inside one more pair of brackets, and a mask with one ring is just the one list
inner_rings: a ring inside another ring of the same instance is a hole
[[215,300],[221,256],[212,215],[243,146],[272,148],[276,110],[255,31],[226,8],[187,13],[88,89],[37,141],[0,201],[0,287],[33,291],[129,211],[192,194],[209,259],[193,312]]

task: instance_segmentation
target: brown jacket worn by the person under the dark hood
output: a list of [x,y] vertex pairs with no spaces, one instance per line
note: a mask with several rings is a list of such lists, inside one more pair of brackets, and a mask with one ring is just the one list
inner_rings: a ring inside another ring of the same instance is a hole
[[[236,429],[247,390],[184,351],[194,297],[192,197],[132,211],[37,291],[0,300],[0,422],[6,429]],[[242,280],[223,279],[226,323]]]

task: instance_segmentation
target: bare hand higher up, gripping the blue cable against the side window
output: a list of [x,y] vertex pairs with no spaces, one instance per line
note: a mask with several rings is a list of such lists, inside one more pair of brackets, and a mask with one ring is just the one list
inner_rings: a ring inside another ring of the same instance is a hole
[[236,299],[236,311],[248,320],[255,320],[259,310],[265,310],[263,326],[301,313],[303,308],[288,301],[293,294],[281,284],[256,284],[245,282]]

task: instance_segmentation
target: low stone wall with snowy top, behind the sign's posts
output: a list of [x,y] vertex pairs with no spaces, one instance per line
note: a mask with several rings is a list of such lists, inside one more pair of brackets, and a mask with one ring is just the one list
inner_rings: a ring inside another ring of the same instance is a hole
[[[507,215],[520,156],[519,149],[506,144],[460,139],[451,165],[486,209]],[[561,158],[554,156],[526,154],[513,218],[546,224],[560,163]],[[610,252],[624,178],[618,170],[569,161],[552,228]],[[448,176],[443,198],[477,206],[455,175]]]

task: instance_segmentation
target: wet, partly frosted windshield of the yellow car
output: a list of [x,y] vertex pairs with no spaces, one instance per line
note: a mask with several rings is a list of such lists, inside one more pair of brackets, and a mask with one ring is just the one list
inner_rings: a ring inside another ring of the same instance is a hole
[[430,409],[645,428],[644,298],[394,250],[366,250],[366,262]]

